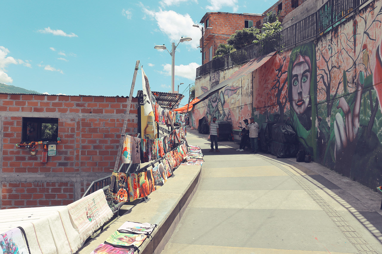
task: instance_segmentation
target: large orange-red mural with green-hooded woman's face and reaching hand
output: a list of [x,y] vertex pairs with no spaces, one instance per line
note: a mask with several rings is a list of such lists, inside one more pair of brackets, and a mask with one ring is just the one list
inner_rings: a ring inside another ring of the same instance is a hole
[[255,71],[253,116],[286,122],[316,162],[371,188],[382,180],[382,1]]

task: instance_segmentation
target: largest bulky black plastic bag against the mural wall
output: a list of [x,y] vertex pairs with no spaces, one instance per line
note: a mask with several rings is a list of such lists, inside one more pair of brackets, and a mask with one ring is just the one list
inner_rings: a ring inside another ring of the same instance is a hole
[[297,135],[290,125],[279,122],[272,126],[272,154],[277,158],[296,157]]

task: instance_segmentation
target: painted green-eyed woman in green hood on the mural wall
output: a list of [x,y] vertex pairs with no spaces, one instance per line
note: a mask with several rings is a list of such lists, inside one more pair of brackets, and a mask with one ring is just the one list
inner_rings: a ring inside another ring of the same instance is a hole
[[299,142],[317,159],[316,49],[309,42],[293,48],[288,66],[290,120]]

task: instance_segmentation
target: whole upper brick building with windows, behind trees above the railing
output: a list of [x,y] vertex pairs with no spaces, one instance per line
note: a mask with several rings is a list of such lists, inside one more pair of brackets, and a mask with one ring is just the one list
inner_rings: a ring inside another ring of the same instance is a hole
[[[215,55],[215,50],[220,43],[227,43],[227,39],[236,30],[249,28],[256,25],[256,22],[262,20],[265,15],[254,13],[228,13],[228,12],[207,12],[204,14],[200,23],[205,29],[204,38],[200,39],[200,48],[202,49],[203,64],[211,61]],[[202,45],[204,41],[204,45]]]

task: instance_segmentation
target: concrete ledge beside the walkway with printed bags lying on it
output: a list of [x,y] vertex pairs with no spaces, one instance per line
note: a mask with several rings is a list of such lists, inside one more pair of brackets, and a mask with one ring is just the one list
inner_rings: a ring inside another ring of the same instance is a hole
[[148,222],[157,224],[148,239],[139,247],[140,254],[159,254],[170,240],[189,202],[194,196],[201,178],[201,166],[179,166],[175,177],[159,190],[149,195],[150,201],[139,203],[110,224],[99,235],[86,243],[76,254],[89,254],[112,235],[124,222]]

